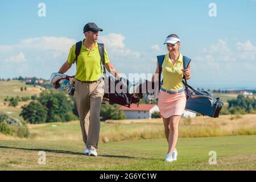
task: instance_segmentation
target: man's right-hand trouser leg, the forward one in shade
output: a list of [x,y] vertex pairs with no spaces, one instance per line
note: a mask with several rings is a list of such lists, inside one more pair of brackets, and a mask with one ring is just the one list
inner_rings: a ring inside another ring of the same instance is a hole
[[87,146],[98,148],[98,139],[100,136],[100,111],[101,102],[104,96],[104,80],[90,85],[92,93],[90,94],[90,125],[87,138]]

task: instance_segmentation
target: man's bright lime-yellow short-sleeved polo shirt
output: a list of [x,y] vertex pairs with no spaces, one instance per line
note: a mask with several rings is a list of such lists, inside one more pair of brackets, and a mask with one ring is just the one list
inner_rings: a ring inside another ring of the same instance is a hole
[[[82,40],[82,42],[84,42],[84,40]],[[73,63],[76,58],[75,51],[76,44],[73,45],[69,51],[68,63],[70,64]],[[106,48],[104,48],[104,57],[105,64],[109,63]],[[98,44],[96,43],[90,51],[84,46],[84,44],[82,44],[80,54],[77,57],[75,78],[80,81],[96,81],[98,78],[102,77],[102,73],[101,56],[98,51]]]

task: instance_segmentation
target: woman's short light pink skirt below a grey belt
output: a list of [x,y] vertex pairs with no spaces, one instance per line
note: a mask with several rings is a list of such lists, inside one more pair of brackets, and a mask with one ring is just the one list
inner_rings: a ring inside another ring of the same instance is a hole
[[169,118],[172,115],[182,115],[186,106],[185,92],[169,94],[160,90],[158,97],[158,107],[160,116]]

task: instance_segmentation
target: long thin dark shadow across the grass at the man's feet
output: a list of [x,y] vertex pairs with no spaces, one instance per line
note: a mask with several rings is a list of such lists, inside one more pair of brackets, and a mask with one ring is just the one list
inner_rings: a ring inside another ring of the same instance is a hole
[[[64,151],[64,150],[51,150],[51,149],[46,149],[46,148],[22,148],[22,147],[9,147],[9,146],[0,146],[0,148],[16,149],[16,150],[28,150],[28,151],[44,151],[44,152],[53,152],[53,153],[60,153],[60,154],[72,154],[72,155],[85,156],[82,152],[72,152],[72,151]],[[106,158],[135,159],[135,157],[133,157],[133,156],[122,156],[122,155],[98,155],[98,156],[106,157]],[[136,159],[146,159],[146,158],[136,158]]]

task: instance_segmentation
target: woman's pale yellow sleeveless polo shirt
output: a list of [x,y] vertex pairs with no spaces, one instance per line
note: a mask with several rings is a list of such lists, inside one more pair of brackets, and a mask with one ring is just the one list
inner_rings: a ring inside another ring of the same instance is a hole
[[[180,52],[179,52],[180,53]],[[169,60],[169,53],[164,56],[162,65],[163,70],[163,85],[162,87],[167,90],[179,90],[183,88],[183,56],[179,55],[179,59],[176,60],[175,64],[172,64]]]

